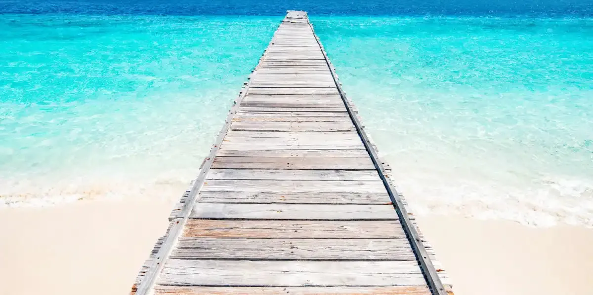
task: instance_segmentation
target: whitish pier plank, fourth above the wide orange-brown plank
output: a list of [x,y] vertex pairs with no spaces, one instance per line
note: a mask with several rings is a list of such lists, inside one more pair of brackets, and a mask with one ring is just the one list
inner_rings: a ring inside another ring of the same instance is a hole
[[[257,151],[256,151],[257,152]],[[368,170],[273,170],[211,169],[206,179],[380,181],[377,171]]]

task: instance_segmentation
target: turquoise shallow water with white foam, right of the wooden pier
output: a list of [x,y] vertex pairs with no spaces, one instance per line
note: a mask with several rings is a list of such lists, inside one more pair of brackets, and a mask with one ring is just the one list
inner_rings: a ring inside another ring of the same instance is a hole
[[313,20],[416,211],[593,226],[593,19]]

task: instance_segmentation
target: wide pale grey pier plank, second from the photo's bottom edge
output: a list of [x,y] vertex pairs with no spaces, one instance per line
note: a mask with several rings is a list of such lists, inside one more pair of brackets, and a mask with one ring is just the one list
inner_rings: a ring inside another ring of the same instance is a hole
[[158,284],[175,286],[417,286],[416,261],[168,259]]

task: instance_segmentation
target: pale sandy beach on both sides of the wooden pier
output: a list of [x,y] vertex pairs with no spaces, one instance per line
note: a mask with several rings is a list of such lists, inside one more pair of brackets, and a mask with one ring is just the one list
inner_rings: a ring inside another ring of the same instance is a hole
[[[173,202],[94,200],[0,210],[0,293],[127,294],[164,233]],[[458,216],[418,221],[457,295],[591,294],[591,229]]]

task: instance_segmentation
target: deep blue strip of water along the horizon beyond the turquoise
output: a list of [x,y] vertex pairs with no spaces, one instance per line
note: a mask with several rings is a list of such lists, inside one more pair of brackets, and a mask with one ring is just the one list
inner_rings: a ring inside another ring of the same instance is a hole
[[282,15],[287,9],[312,15],[593,15],[593,0],[0,0],[5,14]]

